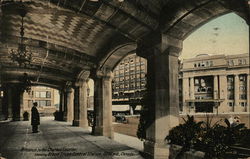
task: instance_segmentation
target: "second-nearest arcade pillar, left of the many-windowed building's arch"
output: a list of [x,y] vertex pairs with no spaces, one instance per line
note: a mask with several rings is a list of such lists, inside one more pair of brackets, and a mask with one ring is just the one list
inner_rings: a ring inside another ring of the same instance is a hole
[[98,70],[94,79],[94,126],[92,133],[113,139],[112,125],[112,81],[109,69]]

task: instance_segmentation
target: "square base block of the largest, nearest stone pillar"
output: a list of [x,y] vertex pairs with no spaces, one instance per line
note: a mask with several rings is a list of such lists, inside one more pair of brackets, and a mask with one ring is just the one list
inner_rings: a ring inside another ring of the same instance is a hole
[[166,159],[169,157],[170,145],[158,144],[151,141],[144,141],[144,153],[153,159]]

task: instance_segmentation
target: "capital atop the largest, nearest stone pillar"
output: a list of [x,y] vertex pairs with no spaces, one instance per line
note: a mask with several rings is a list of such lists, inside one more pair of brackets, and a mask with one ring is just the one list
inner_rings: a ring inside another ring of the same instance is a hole
[[182,40],[163,34],[161,31],[155,31],[137,42],[136,53],[144,58],[150,58],[159,54],[178,57],[182,51],[182,45]]

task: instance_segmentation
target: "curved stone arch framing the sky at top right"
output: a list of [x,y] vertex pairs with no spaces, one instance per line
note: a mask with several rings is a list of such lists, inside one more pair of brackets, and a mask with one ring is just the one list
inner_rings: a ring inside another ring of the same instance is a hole
[[[170,8],[171,6],[175,8]],[[249,24],[249,4],[246,0],[180,1],[162,10],[161,26],[164,34],[184,40],[197,28],[221,15],[235,12]],[[170,14],[172,16],[166,16]]]

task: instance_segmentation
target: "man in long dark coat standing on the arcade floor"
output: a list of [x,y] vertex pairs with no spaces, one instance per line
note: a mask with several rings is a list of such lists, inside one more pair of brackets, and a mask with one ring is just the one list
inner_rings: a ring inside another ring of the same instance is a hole
[[37,102],[33,103],[33,107],[31,109],[31,125],[32,125],[32,132],[38,132],[38,125],[40,125],[40,116],[37,110]]

